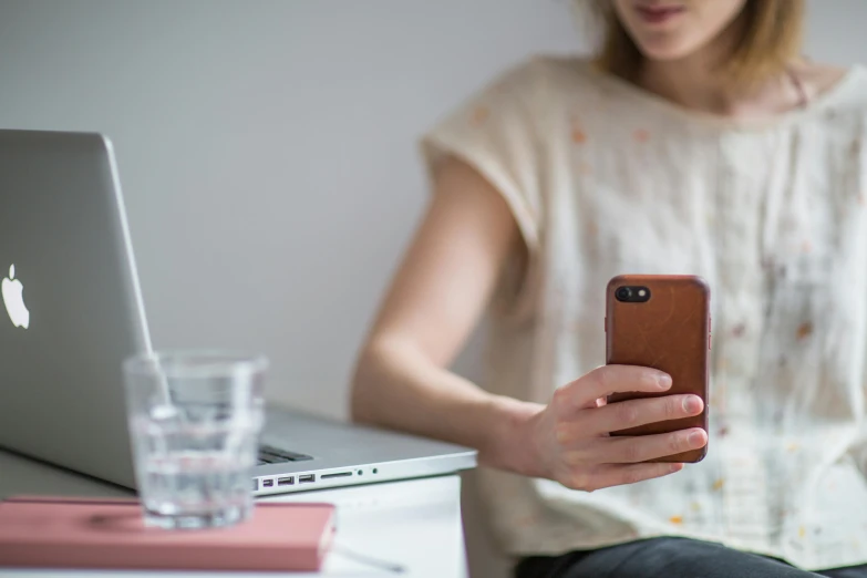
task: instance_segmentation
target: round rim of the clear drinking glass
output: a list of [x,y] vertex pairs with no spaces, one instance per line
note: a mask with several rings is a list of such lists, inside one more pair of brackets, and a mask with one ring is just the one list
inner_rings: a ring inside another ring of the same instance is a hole
[[207,379],[242,373],[261,373],[269,367],[261,353],[226,349],[175,349],[147,351],[123,362],[127,375],[159,375],[179,379]]

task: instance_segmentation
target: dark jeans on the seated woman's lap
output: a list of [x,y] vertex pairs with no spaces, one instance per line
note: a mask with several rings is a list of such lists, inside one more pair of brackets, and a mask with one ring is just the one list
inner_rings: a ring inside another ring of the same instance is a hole
[[525,558],[515,578],[867,578],[867,566],[808,572],[775,558],[687,538],[652,538]]

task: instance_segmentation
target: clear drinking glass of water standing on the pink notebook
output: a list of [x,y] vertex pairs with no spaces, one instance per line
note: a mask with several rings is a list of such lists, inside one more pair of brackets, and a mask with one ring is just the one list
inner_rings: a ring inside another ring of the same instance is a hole
[[123,369],[145,524],[206,528],[247,519],[267,360],[151,353],[126,360]]

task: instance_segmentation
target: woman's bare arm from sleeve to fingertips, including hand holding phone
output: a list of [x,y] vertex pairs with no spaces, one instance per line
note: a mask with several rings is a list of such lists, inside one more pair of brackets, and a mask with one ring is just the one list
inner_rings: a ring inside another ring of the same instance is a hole
[[[601,406],[615,391],[664,391],[668,375],[602,368],[540,405],[485,392],[447,368],[492,296],[500,269],[527,248],[503,197],[475,169],[446,161],[436,190],[361,351],[352,416],[475,447],[479,463],[582,489],[669,474],[644,460],[701,447],[693,432],[609,438],[608,432],[701,413],[671,395]],[[695,402],[698,401],[698,405]]]

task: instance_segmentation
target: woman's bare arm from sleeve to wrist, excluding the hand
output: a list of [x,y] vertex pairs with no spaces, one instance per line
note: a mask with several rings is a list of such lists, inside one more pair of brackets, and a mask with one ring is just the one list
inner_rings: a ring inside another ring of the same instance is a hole
[[[503,197],[445,161],[424,220],[364,344],[352,416],[479,451],[479,462],[533,473],[507,440],[539,405],[492,395],[446,368],[474,329],[513,251],[525,251]],[[505,452],[503,450],[506,450]]]

